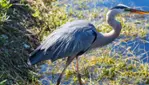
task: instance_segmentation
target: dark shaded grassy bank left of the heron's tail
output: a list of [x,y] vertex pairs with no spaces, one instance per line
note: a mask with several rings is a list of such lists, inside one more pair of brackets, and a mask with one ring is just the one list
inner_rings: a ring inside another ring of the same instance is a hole
[[27,31],[30,25],[34,24],[31,9],[25,4],[16,4],[8,0],[1,0],[0,8],[1,84],[27,84],[27,80],[31,80],[31,83],[33,79],[28,77],[31,74],[25,63],[29,51],[35,47],[35,43],[30,40],[30,37],[35,36]]

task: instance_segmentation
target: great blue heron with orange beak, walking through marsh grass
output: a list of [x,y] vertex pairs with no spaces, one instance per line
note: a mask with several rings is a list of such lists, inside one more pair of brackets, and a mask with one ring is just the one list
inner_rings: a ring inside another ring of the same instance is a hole
[[123,12],[149,14],[149,12],[132,9],[125,5],[117,5],[107,13],[106,21],[113,30],[105,34],[97,32],[95,26],[85,20],[68,22],[47,37],[30,55],[28,63],[33,65],[44,60],[51,60],[53,62],[67,57],[66,66],[57,81],[57,85],[59,85],[65,69],[76,58],[78,80],[80,85],[82,85],[81,76],[78,71],[78,56],[88,50],[107,45],[117,38],[122,26],[120,22],[115,20],[115,17]]

